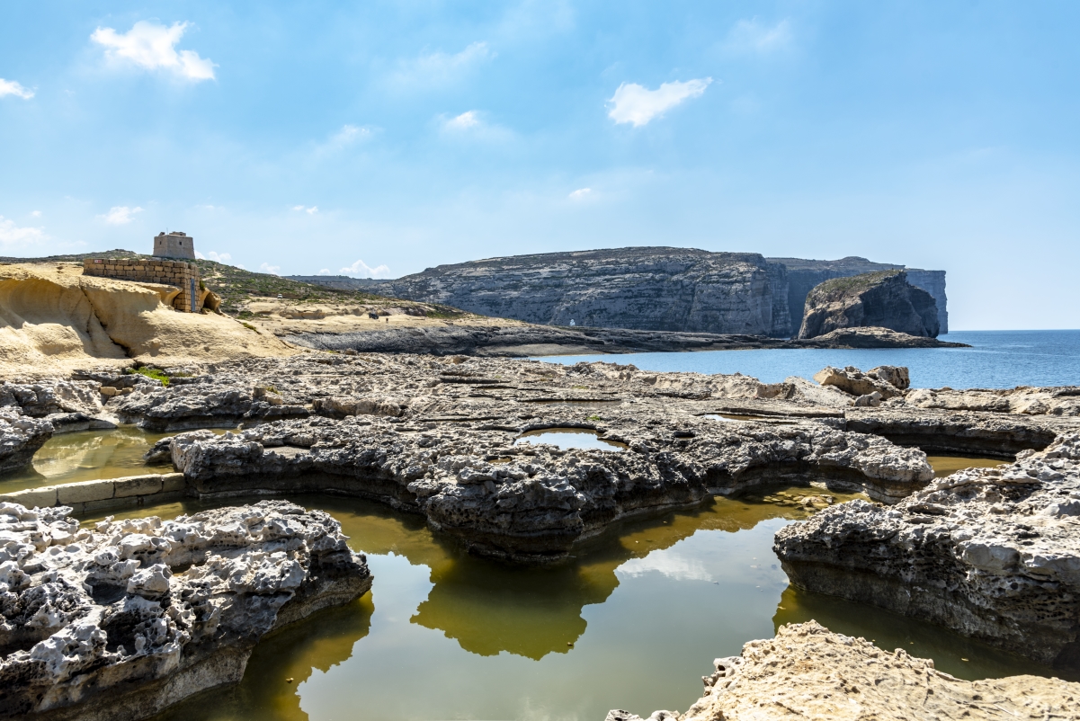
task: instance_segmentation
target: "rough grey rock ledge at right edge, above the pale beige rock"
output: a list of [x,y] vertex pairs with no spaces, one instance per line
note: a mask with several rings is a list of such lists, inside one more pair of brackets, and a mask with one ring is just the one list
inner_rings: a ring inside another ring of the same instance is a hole
[[1080,669],[1080,434],[777,533],[792,583]]

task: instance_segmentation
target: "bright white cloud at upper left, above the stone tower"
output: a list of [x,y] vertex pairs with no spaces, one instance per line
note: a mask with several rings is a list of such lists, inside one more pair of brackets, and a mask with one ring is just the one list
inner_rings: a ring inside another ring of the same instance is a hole
[[157,23],[139,21],[127,32],[117,32],[112,28],[97,28],[90,39],[105,46],[109,59],[134,63],[147,70],[164,69],[186,80],[213,80],[217,67],[207,58],[199,57],[193,50],[176,52],[189,23],[173,23],[165,27]]

